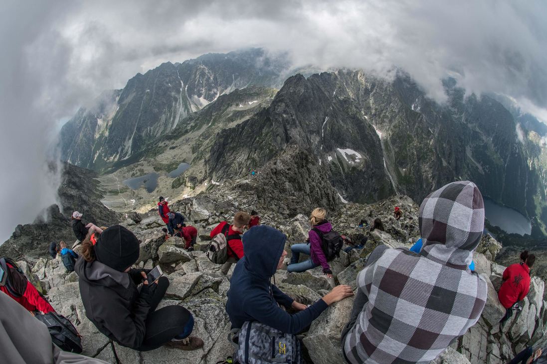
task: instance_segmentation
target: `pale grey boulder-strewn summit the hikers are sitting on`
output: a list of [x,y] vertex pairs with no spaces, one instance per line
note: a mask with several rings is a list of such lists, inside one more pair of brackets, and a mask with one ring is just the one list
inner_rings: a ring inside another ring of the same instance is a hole
[[[297,158],[301,151],[295,150],[294,153],[294,158]],[[302,163],[306,162],[305,155],[300,158],[303,158]],[[277,160],[270,166],[269,173],[274,175],[274,167],[282,169],[285,167],[283,163],[283,160]],[[294,170],[297,171],[299,167],[301,166],[295,166]],[[340,202],[332,187],[325,185],[316,186],[317,190],[311,190],[307,195],[310,196],[309,200],[296,201],[294,198],[297,194],[293,189],[312,188],[307,179],[313,180],[313,175],[307,176],[304,173],[298,181],[295,181],[290,173],[286,179],[278,181],[270,177],[271,175],[266,175],[262,177],[264,179],[241,180],[226,186],[211,185],[199,196],[172,203],[172,210],[181,212],[187,217],[187,223],[199,230],[195,251],[184,250],[182,239],[165,239],[161,231],[164,224],[155,209],[143,214],[127,213],[122,216],[121,225],[129,228],[141,240],[141,253],[137,265],[152,268],[159,264],[171,282],[166,299],[160,303],[160,307],[164,304],[182,304],[195,315],[195,334],[205,342],[200,350],[178,351],[159,348],[139,353],[110,342],[85,317],[77,276],[75,273],[66,274],[59,259],[51,260],[43,254],[38,259],[26,257],[21,265],[31,281],[46,294],[54,308],[77,326],[83,336],[84,354],[113,363],[216,363],[231,355],[233,350],[227,340],[230,322],[224,309],[231,273],[228,274],[228,278],[224,276],[219,271],[220,266],[211,263],[203,253],[210,239],[209,233],[218,222],[230,221],[238,210],[256,209],[261,214],[261,222],[274,226],[287,235],[286,250],[290,254],[290,245],[304,241],[310,229],[304,214],[309,213],[309,210],[318,203],[323,203],[329,208],[330,220],[336,230],[353,241],[359,241],[368,231],[367,228],[358,227],[361,219],[368,220],[369,224],[374,218],[382,219],[385,232],[370,233],[363,249],[351,250],[349,254],[341,252],[340,257],[331,262],[334,273],[332,279],[323,275],[320,268],[304,273],[287,273],[284,268],[277,271],[275,280],[282,290],[312,300],[318,300],[336,284],[348,284],[355,288],[357,273],[364,266],[370,251],[377,245],[408,248],[420,237],[418,206],[407,196],[397,195],[373,204],[346,204]],[[270,187],[284,185],[285,189],[268,189],[268,182],[272,183]],[[257,190],[260,186],[263,186],[263,190]],[[317,193],[322,189],[325,190],[322,194]],[[269,198],[274,193],[282,197],[272,206],[272,200]],[[400,220],[395,220],[392,216],[394,206],[399,206],[403,211]],[[507,362],[525,345],[536,342],[547,331],[544,281],[538,277],[532,279],[531,290],[525,298],[522,312],[499,327],[498,321],[505,309],[498,301],[496,290],[501,284],[504,267],[492,260],[500,249],[501,245],[491,236],[482,238],[474,254],[474,261],[476,272],[481,274],[488,284],[486,307],[478,324],[453,343],[438,357],[436,363]],[[343,363],[340,332],[349,318],[352,302],[353,298],[346,298],[333,304],[304,334],[305,355],[309,362]]]

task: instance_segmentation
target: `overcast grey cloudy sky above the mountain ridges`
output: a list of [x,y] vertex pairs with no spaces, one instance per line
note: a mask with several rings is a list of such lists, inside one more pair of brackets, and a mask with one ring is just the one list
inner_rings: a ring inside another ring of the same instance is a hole
[[547,120],[547,2],[13,1],[0,12],[0,241],[55,202],[44,172],[61,121],[137,72],[249,46],[295,65],[409,72],[499,92]]

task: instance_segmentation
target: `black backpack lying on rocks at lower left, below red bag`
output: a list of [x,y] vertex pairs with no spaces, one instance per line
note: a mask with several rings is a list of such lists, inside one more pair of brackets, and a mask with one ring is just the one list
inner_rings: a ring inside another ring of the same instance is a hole
[[59,348],[72,353],[82,353],[80,334],[67,318],[52,311],[45,315],[34,315],[48,327],[51,341]]

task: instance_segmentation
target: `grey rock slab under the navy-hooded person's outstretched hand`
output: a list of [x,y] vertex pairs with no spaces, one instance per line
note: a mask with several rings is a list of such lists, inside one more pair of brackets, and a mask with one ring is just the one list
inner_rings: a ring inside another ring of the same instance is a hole
[[353,297],[331,304],[310,326],[304,345],[315,364],[344,364],[340,334],[347,324]]

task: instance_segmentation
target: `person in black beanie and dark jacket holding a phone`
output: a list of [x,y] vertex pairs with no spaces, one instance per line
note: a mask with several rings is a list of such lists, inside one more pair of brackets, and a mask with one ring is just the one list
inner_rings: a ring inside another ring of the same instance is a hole
[[156,310],[169,280],[148,282],[147,269],[131,268],[139,256],[139,241],[131,231],[110,226],[95,245],[85,239],[81,255],[75,272],[85,315],[107,337],[138,351],[203,346],[203,340],[190,336],[194,318],[187,309],[173,305]]

